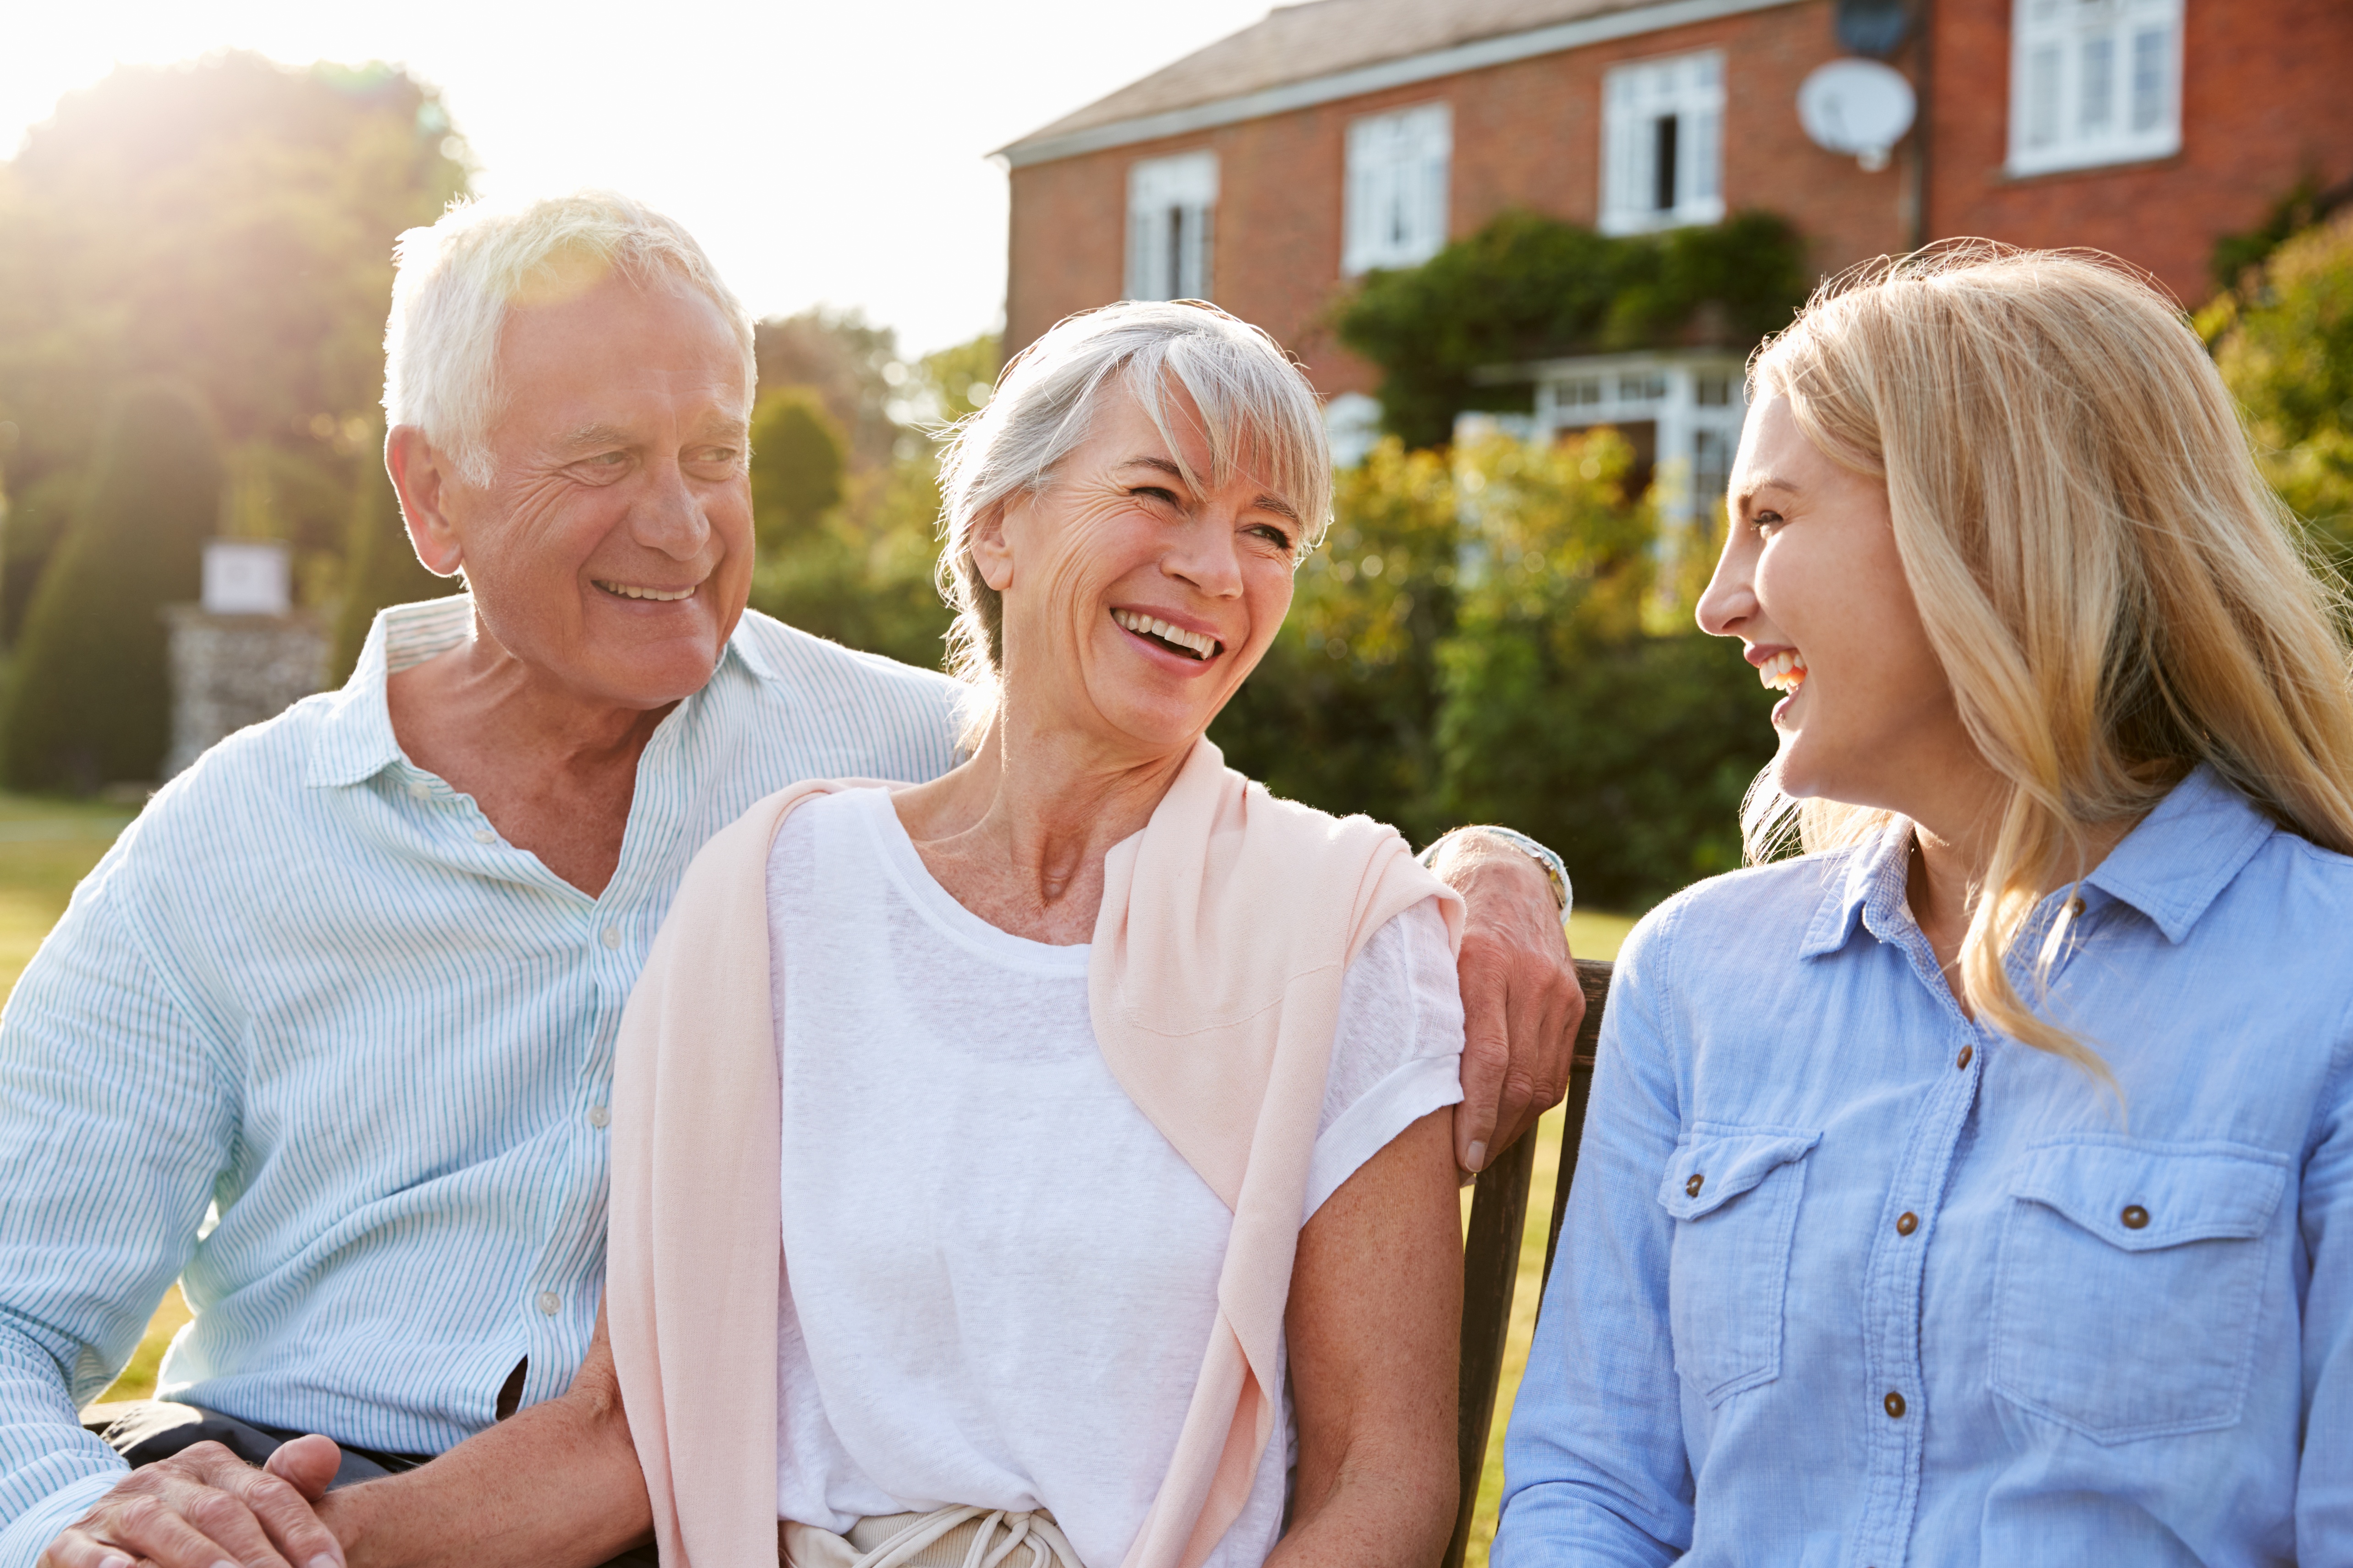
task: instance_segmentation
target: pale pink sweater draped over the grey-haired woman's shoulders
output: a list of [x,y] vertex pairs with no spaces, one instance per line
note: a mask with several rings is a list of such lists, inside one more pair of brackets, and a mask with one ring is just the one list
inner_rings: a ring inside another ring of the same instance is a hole
[[[621,1018],[605,1305],[654,1537],[671,1568],[776,1561],[781,1088],[767,858],[781,790],[687,870]],[[882,785],[864,785],[882,788]],[[1195,743],[1111,849],[1087,961],[1120,1088],[1233,1211],[1176,1453],[1122,1568],[1198,1568],[1273,1436],[1282,1309],[1341,976],[1388,919],[1461,898],[1362,816],[1271,797]]]

